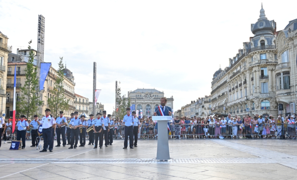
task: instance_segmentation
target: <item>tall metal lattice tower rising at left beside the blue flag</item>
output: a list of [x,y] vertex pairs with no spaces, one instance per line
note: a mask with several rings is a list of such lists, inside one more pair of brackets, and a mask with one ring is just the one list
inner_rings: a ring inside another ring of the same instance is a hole
[[[37,36],[37,78],[40,81],[40,65],[44,62],[45,51],[45,17],[38,15],[38,36]],[[43,91],[40,91],[40,101],[43,101]],[[38,107],[38,114],[42,114],[42,105]]]

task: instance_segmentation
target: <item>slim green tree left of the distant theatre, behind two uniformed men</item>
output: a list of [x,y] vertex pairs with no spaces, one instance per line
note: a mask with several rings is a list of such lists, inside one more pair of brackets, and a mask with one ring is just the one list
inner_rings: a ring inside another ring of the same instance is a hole
[[115,109],[115,116],[119,117],[120,119],[123,119],[124,115],[126,114],[126,108],[131,106],[130,98],[126,98],[126,95],[121,95],[121,88],[120,83],[118,84],[118,87],[116,89],[116,105],[117,109]]

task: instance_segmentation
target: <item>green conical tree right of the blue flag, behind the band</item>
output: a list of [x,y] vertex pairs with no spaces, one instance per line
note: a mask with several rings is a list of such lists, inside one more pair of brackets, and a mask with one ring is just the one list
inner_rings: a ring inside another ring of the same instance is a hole
[[57,71],[56,81],[54,82],[53,90],[50,91],[51,97],[48,98],[48,105],[51,109],[51,114],[54,117],[57,117],[59,111],[65,111],[69,109],[68,101],[65,97],[65,90],[64,90],[64,64],[63,64],[63,57],[60,58],[60,62],[58,63],[59,69]]

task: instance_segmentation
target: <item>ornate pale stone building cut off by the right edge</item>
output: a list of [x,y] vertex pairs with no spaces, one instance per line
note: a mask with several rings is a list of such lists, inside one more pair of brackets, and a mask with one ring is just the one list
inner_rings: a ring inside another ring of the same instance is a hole
[[276,45],[276,100],[283,104],[284,114],[296,113],[297,19],[290,21],[284,30],[277,33]]

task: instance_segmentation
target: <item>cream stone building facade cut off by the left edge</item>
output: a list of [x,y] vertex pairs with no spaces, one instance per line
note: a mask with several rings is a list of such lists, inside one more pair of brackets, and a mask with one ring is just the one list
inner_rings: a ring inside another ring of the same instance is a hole
[[0,113],[6,116],[6,82],[8,54],[12,47],[7,45],[8,37],[0,32]]

